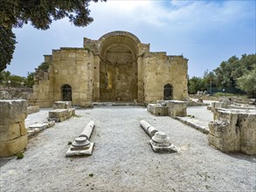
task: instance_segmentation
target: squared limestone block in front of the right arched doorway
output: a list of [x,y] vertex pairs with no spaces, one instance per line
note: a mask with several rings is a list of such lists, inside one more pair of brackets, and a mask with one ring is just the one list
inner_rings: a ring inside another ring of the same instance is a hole
[[170,100],[167,103],[170,116],[187,116],[187,103],[181,100]]

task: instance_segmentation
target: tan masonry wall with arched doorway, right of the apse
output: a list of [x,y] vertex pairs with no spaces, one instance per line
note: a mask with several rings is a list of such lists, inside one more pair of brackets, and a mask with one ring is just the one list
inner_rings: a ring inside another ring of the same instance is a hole
[[187,59],[183,56],[167,56],[165,52],[149,52],[143,62],[144,99],[156,103],[163,99],[163,86],[173,86],[172,99],[184,99],[187,90]]

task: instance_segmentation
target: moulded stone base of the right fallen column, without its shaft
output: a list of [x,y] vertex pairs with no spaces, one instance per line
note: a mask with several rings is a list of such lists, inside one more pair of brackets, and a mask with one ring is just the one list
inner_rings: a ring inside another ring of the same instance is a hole
[[170,138],[163,132],[156,132],[156,134],[149,141],[153,151],[156,153],[176,153],[176,147],[171,144]]

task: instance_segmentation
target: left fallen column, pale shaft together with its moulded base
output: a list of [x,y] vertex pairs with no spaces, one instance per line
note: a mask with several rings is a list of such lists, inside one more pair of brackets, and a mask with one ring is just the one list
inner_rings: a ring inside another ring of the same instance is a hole
[[91,120],[82,131],[80,136],[73,141],[72,146],[66,152],[66,156],[90,155],[93,153],[93,142],[89,141],[93,133],[94,122]]

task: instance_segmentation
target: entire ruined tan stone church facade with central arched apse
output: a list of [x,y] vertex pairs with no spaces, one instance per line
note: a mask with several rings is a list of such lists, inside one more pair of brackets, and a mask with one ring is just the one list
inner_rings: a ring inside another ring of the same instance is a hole
[[188,97],[188,59],[151,52],[149,44],[127,31],[113,31],[98,40],[84,38],[83,48],[60,48],[45,56],[33,86],[36,105],[56,100],[73,106],[93,102],[135,101]]

